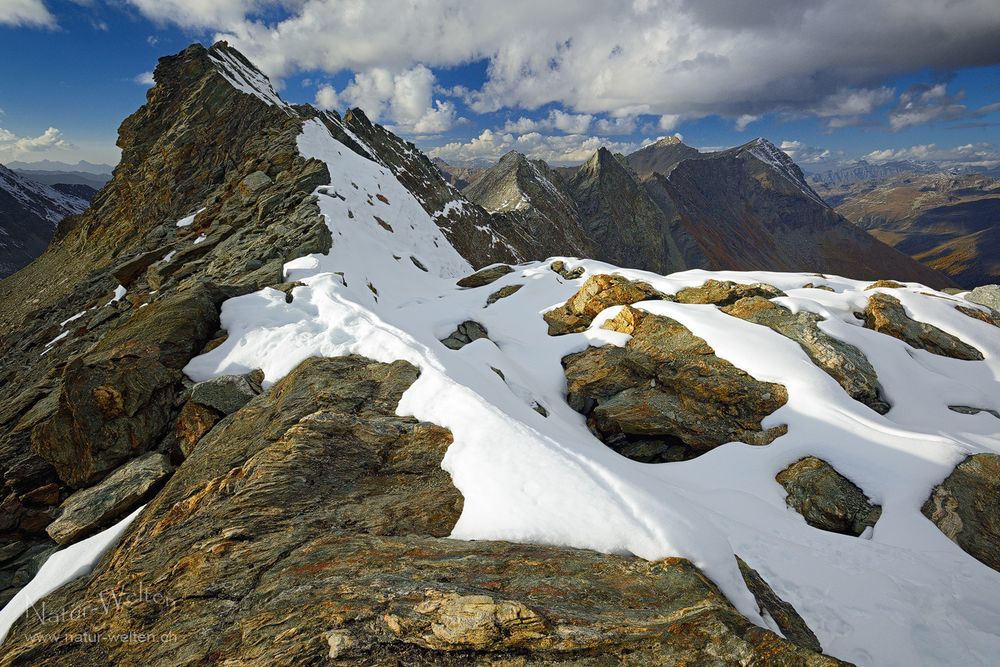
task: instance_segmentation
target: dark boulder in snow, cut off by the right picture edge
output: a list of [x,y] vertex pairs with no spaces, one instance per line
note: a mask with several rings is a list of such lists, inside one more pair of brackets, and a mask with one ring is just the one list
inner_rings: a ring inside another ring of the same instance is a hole
[[948,539],[1000,572],[1000,456],[962,461],[934,487],[922,511]]

